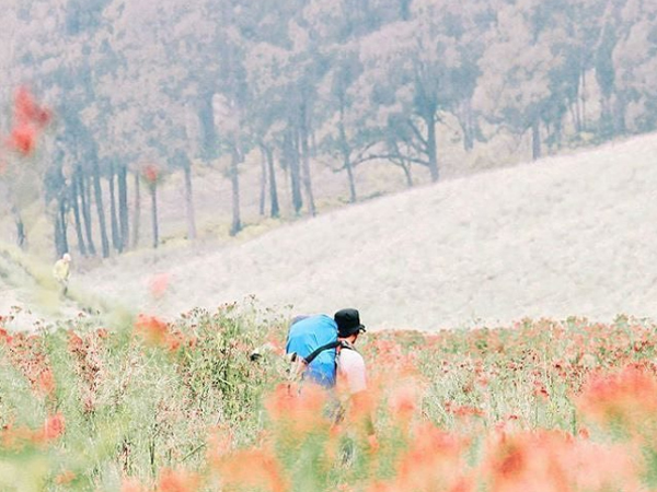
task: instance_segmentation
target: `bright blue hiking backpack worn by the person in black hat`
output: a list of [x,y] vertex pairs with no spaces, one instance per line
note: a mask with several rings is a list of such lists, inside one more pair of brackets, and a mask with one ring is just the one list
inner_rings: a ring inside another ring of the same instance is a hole
[[337,339],[337,325],[326,315],[295,318],[285,351],[292,378],[310,379],[325,388],[335,386],[339,350],[351,349]]

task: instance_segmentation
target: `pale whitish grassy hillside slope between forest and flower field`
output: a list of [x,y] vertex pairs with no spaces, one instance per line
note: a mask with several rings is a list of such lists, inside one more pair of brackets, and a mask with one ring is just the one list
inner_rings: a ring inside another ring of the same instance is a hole
[[[657,137],[453,179],[242,244],[132,255],[85,289],[174,316],[254,294],[372,328],[657,317]],[[152,300],[150,276],[170,273]]]

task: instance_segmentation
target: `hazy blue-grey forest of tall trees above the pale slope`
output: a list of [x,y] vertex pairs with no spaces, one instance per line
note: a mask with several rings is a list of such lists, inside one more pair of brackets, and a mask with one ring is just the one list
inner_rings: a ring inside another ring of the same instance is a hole
[[[260,155],[263,215],[318,213],[331,166],[385,162],[413,186],[441,179],[441,133],[464,152],[527,138],[528,159],[656,126],[657,3],[648,0],[4,0],[0,11],[1,214],[27,248],[25,211],[54,254],[158,247],[158,189],[184,183],[197,236],[195,166],[230,181]],[[21,89],[23,87],[23,89]],[[28,87],[28,89],[24,89]],[[51,115],[16,151],[25,92]],[[13,140],[12,140],[13,139]],[[14,142],[15,143],[15,142]],[[503,156],[504,157],[504,156]],[[242,189],[242,192],[244,190]]]

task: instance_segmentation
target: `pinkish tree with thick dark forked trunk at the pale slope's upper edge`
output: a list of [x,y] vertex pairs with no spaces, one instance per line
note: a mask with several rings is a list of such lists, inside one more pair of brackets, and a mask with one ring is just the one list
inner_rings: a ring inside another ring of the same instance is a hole
[[417,0],[408,21],[383,26],[361,43],[365,71],[362,97],[379,107],[381,129],[401,131],[414,150],[414,162],[439,178],[437,124],[441,113],[454,112],[464,60],[459,50],[466,17],[448,1]]

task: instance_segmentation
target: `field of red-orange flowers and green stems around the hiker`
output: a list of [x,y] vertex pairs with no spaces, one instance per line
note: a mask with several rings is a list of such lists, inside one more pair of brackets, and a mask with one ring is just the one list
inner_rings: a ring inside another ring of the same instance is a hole
[[0,490],[657,490],[652,324],[367,333],[339,424],[287,383],[285,326],[229,305],[0,331]]

